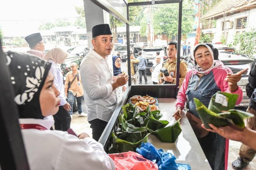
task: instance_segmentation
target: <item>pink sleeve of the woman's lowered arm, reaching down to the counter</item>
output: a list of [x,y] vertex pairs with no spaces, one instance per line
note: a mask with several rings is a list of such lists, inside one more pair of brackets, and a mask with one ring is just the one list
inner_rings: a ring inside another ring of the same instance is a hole
[[186,102],[186,96],[187,96],[186,91],[187,91],[187,87],[188,87],[189,78],[190,78],[192,72],[193,72],[193,69],[190,70],[189,72],[187,72],[186,77],[181,85],[181,89],[178,92],[177,100],[176,100],[176,104],[175,104],[176,108],[178,106],[181,106],[181,108],[184,109],[185,102]]

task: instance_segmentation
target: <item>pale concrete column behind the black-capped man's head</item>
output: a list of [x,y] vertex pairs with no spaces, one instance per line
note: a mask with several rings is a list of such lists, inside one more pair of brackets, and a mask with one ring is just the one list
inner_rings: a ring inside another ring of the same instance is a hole
[[93,45],[91,44],[91,39],[93,38],[91,34],[91,29],[98,24],[110,24],[109,13],[102,10],[102,8],[95,5],[90,0],[84,0],[84,13],[88,38],[88,47],[91,48],[93,47]]

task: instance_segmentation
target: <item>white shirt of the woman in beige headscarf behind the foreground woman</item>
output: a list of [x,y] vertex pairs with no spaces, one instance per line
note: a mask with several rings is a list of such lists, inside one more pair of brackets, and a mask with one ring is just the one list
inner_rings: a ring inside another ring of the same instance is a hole
[[63,85],[63,75],[60,69],[60,66],[58,66],[54,61],[51,59],[48,60],[48,62],[52,63],[50,71],[53,73],[54,76],[54,86],[60,91],[60,105],[63,106],[67,103],[66,101],[66,94],[64,90],[64,85]]

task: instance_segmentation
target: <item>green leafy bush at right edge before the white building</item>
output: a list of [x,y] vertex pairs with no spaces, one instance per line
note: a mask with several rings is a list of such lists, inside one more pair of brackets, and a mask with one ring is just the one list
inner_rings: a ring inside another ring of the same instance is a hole
[[245,54],[248,57],[255,59],[256,54],[256,30],[243,32],[234,36],[233,43],[230,46],[238,47],[238,53]]

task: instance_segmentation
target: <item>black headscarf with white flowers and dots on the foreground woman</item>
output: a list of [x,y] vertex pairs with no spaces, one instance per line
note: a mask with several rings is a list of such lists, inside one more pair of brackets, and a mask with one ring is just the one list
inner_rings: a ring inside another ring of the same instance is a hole
[[28,53],[8,51],[5,54],[20,118],[43,119],[39,95],[51,63]]

